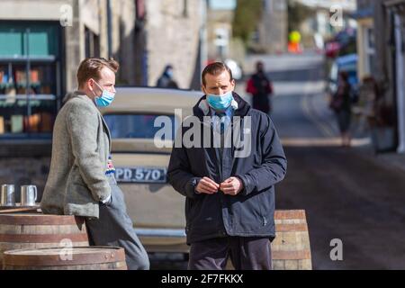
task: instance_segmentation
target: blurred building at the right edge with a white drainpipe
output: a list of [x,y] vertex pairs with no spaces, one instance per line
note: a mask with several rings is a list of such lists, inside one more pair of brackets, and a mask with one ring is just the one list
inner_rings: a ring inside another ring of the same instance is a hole
[[380,86],[377,149],[405,152],[405,1],[358,0],[358,71]]

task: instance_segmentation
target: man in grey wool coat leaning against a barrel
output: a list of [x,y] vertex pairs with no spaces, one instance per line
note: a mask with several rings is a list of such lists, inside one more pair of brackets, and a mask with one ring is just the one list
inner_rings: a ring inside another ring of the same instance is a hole
[[112,165],[110,131],[97,107],[115,94],[114,60],[86,58],[78,68],[78,91],[58,112],[44,213],[85,218],[92,245],[123,247],[130,270],[149,268],[148,254],[135,234]]

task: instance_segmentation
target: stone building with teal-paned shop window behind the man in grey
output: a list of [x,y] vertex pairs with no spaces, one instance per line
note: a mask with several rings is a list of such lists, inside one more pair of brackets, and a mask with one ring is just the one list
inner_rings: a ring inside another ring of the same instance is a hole
[[53,122],[64,95],[76,89],[82,59],[117,58],[118,82],[135,84],[136,3],[1,1],[0,184],[37,184],[42,191]]

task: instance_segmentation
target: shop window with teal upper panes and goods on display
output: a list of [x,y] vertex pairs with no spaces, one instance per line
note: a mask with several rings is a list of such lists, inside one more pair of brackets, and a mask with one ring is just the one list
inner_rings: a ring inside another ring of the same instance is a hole
[[51,138],[61,94],[58,29],[0,22],[0,140]]

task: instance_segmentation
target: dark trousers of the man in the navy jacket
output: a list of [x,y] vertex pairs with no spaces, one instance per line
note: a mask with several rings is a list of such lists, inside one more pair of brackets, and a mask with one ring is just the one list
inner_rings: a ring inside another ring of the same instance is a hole
[[189,270],[224,270],[228,259],[236,270],[272,270],[269,238],[226,237],[192,243]]

